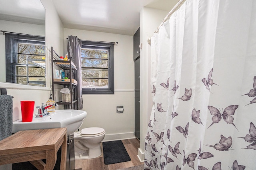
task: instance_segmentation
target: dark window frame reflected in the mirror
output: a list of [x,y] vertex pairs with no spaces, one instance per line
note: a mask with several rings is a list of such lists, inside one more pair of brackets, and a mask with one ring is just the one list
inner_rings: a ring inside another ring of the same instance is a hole
[[[16,82],[16,64],[18,63],[18,43],[31,43],[31,44],[45,45],[45,37],[37,36],[37,35],[5,33],[6,82],[17,83]],[[46,78],[46,72],[45,72],[45,78]],[[26,84],[23,84],[23,85],[26,85]]]

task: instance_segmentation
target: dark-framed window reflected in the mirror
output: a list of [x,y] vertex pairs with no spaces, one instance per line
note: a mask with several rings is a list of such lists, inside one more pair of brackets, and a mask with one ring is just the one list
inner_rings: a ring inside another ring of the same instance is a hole
[[6,82],[45,86],[45,38],[6,33]]

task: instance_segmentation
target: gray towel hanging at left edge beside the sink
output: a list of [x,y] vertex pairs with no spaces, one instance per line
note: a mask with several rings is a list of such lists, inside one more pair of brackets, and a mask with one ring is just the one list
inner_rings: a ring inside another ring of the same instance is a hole
[[12,96],[0,95],[0,141],[12,135]]

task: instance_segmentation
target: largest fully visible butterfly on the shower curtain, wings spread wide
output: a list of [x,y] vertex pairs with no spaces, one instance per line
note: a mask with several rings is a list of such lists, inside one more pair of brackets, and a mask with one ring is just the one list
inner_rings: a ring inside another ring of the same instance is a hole
[[[223,120],[226,121],[226,123],[230,123],[230,124],[234,125],[234,127],[236,128],[236,125],[233,123],[234,117],[232,117],[231,115],[234,115],[237,108],[238,108],[238,105],[228,106],[224,109],[223,113],[221,114],[220,111],[216,107],[208,106],[208,109],[209,109],[211,115],[213,115],[212,116],[212,124],[209,127],[211,127],[214,123],[219,123],[221,118],[223,118]],[[236,128],[236,130],[238,131],[237,128]]]

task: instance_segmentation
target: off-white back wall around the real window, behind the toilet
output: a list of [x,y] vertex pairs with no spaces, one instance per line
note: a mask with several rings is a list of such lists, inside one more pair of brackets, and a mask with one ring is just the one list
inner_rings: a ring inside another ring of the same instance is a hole
[[[114,94],[84,94],[83,110],[88,113],[82,128],[102,127],[104,141],[134,137],[134,61],[133,36],[64,29],[65,51],[68,35],[82,40],[118,42],[114,45]],[[124,106],[124,113],[116,113]]]

